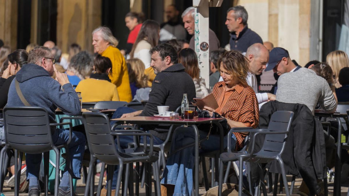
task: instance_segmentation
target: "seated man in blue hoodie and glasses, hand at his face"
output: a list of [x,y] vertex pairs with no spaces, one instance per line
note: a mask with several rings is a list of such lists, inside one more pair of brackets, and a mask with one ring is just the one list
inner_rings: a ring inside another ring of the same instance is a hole
[[[12,81],[7,107],[43,107],[49,113],[50,123],[55,123],[55,110],[59,107],[65,114],[80,115],[80,101],[66,74],[59,73],[54,66],[55,59],[51,50],[44,46],[35,47],[28,55],[28,64],[23,65]],[[52,76],[55,74],[56,79]],[[19,88],[18,88],[19,87]],[[16,89],[17,88],[17,89]],[[55,145],[65,144],[69,130],[51,127],[52,141]],[[86,139],[80,132],[72,132],[68,145],[73,165],[73,178],[80,179],[81,161]],[[39,169],[42,154],[26,154],[29,196],[39,196]],[[70,195],[69,173],[67,168],[59,184],[58,195]]]

